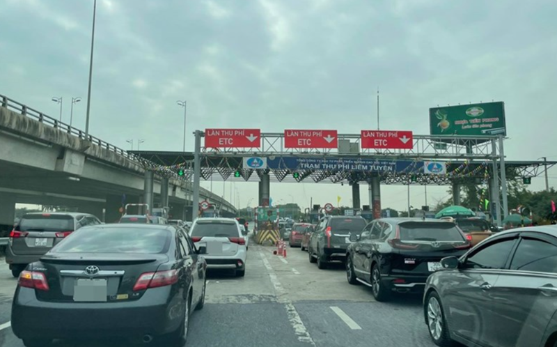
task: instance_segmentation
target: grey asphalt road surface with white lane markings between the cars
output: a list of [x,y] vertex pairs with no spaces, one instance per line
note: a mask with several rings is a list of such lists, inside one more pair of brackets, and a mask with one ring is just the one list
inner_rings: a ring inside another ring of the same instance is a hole
[[[244,278],[210,273],[205,308],[192,314],[186,346],[434,346],[420,296],[375,302],[370,288],[347,283],[340,263],[318,270],[299,248],[287,248],[286,259],[272,250],[252,243]],[[22,347],[8,325],[16,280],[0,260],[0,347]],[[53,346],[131,345],[100,339]]]

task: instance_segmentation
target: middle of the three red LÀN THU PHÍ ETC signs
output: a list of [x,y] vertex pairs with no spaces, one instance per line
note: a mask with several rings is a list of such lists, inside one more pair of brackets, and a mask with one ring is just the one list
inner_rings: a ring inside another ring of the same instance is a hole
[[285,148],[338,148],[336,130],[284,130]]

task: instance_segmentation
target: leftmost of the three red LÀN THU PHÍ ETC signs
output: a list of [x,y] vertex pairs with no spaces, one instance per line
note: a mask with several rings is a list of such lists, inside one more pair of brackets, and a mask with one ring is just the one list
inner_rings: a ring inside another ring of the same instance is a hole
[[260,146],[260,129],[205,129],[206,148],[253,148]]

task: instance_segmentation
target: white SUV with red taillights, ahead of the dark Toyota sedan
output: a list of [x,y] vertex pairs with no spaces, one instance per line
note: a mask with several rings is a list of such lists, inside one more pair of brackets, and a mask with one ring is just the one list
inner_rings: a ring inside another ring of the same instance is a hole
[[189,236],[198,248],[205,247],[208,269],[230,269],[236,276],[244,276],[247,246],[236,219],[198,218]]

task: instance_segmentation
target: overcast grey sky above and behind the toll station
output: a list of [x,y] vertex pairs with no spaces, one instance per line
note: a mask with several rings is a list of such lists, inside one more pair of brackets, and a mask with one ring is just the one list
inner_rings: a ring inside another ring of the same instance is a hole
[[[62,96],[67,123],[70,99],[84,98],[74,107],[84,128],[92,10],[93,0],[0,0],[0,93],[56,117],[51,98]],[[379,86],[383,129],[427,134],[430,107],[504,101],[508,159],[557,160],[556,17],[549,0],[99,0],[91,134],[180,151],[176,100],[188,102],[188,134],[359,133],[377,127]],[[187,150],[193,144],[189,136]],[[222,185],[213,183],[219,194]],[[242,206],[256,198],[256,183],[235,186]],[[406,208],[406,187],[382,188],[383,207]],[[428,189],[428,202],[447,189]],[[290,195],[305,206],[337,195],[349,204],[351,190],[271,187],[274,201]],[[424,201],[423,187],[412,187],[411,204]]]

